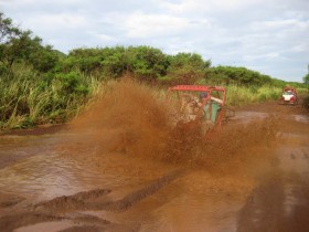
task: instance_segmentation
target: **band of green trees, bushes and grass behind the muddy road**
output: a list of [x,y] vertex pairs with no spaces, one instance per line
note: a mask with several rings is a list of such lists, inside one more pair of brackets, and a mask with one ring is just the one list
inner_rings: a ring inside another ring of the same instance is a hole
[[106,83],[125,75],[161,88],[223,85],[230,105],[276,99],[285,85],[305,88],[245,67],[212,67],[210,60],[195,53],[168,55],[150,46],[75,49],[63,54],[0,12],[0,129],[67,122]]

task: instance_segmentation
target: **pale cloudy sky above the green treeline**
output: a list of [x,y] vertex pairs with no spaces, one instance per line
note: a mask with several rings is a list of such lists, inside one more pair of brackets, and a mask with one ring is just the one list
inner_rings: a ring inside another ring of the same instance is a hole
[[0,12],[66,54],[148,45],[288,82],[309,72],[308,0],[0,0]]

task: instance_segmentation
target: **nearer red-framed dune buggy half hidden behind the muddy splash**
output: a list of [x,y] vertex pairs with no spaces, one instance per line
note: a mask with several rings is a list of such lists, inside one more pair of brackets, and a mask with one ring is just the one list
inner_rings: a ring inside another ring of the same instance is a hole
[[225,106],[224,87],[175,85],[169,88],[169,95],[179,103],[178,114],[174,116],[177,126],[199,127],[205,137],[235,114]]

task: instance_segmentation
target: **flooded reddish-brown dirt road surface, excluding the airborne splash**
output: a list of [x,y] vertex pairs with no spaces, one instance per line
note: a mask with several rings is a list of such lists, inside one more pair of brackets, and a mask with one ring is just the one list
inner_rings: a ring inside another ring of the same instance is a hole
[[220,171],[110,150],[92,133],[0,135],[0,231],[309,231],[308,116],[270,104],[230,123],[274,107],[276,141],[244,140],[245,156]]

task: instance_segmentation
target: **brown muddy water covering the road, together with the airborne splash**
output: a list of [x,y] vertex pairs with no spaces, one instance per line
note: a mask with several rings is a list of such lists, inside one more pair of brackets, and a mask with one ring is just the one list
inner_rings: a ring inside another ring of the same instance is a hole
[[120,82],[70,125],[0,135],[0,231],[309,231],[299,106],[239,108],[207,143],[168,112]]

